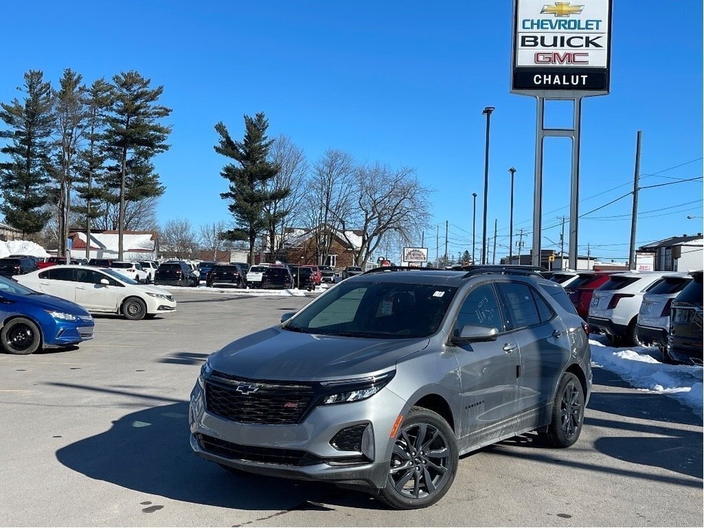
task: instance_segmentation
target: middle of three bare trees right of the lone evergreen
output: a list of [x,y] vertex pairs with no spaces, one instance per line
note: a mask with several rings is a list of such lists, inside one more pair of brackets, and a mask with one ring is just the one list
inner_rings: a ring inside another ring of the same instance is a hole
[[330,252],[334,232],[342,229],[341,218],[348,218],[355,191],[355,163],[348,153],[330,149],[313,168],[306,186],[306,227],[313,230],[318,265]]

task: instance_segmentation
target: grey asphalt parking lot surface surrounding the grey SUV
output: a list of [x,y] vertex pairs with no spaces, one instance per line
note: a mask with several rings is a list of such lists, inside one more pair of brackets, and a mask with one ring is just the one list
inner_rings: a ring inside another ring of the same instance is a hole
[[702,421],[601,368],[582,436],[532,436],[460,460],[447,496],[397,512],[329,484],[233,475],[197,458],[187,405],[208,353],[308,297],[178,291],[156,320],[96,320],[96,338],[0,354],[3,526],[701,526]]

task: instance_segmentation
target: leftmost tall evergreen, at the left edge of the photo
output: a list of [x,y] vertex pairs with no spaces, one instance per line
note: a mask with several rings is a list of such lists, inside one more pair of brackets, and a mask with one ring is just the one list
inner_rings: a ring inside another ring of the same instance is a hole
[[4,203],[0,211],[8,224],[23,234],[42,230],[50,213],[42,210],[49,201],[49,151],[54,114],[51,110],[51,84],[39,70],[25,73],[23,101],[0,103],[0,119],[8,130],[0,137],[10,142],[0,149],[10,159],[0,163],[0,184]]

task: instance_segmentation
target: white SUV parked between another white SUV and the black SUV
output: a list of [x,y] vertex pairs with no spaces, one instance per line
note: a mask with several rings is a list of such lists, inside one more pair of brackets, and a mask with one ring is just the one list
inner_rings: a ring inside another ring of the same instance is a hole
[[687,273],[665,275],[643,295],[643,303],[638,313],[638,340],[646,345],[654,345],[665,351],[667,333],[670,332],[670,305],[682,289],[691,281]]

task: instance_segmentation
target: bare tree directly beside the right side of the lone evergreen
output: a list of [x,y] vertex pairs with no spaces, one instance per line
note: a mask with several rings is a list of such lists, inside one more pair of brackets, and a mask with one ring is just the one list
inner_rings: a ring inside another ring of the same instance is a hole
[[308,161],[303,149],[299,149],[289,137],[284,135],[274,140],[270,148],[270,159],[279,167],[279,172],[271,180],[264,182],[264,188],[272,194],[277,194],[281,189],[290,189],[289,194],[283,199],[272,201],[264,206],[269,248],[272,253],[275,253],[284,246],[285,227],[296,225],[301,218]]

